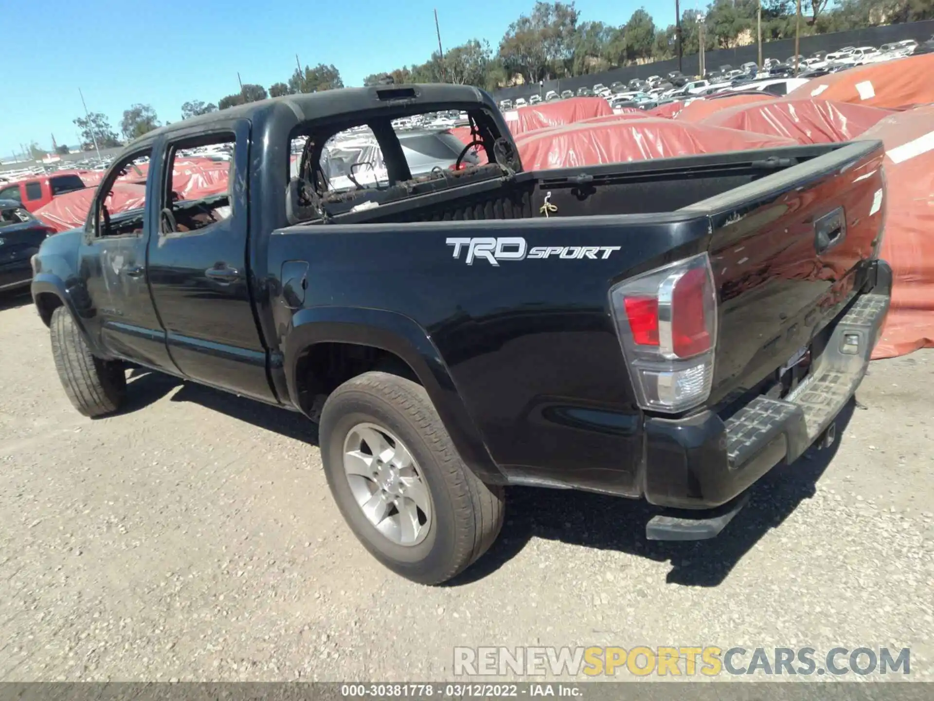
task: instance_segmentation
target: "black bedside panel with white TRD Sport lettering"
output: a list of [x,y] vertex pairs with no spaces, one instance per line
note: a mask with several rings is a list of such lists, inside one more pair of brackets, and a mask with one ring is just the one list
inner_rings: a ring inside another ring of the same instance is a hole
[[[608,291],[705,250],[707,234],[705,219],[686,215],[300,226],[269,237],[269,270],[308,263],[304,310],[387,309],[415,322],[456,388],[432,401],[462,402],[484,450],[511,477],[635,495],[642,417]],[[474,236],[521,236],[527,250],[618,250],[606,259],[467,265],[466,250],[455,258],[446,240]],[[303,312],[281,297],[273,307],[284,347]]]

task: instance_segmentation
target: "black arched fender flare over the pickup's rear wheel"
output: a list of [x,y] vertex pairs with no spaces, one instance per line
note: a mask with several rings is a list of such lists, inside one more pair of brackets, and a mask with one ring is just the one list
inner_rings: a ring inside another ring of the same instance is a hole
[[402,358],[415,371],[431,398],[464,463],[484,481],[505,483],[441,354],[428,334],[412,319],[396,312],[366,308],[318,307],[296,312],[282,344],[290,400],[296,408],[301,408],[297,377],[299,360],[306,350],[318,343],[370,346]]

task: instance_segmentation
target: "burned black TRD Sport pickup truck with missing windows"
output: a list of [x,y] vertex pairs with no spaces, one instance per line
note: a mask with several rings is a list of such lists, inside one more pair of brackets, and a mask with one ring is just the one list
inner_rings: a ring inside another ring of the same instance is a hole
[[[417,172],[397,130],[448,110],[471,143]],[[185,200],[173,164],[202,147],[231,153],[229,188]],[[119,410],[128,365],[302,412],[363,545],[437,583],[496,538],[505,485],[645,499],[647,537],[710,537],[831,441],[888,308],[883,157],[525,172],[474,88],[291,95],[134,141],[32,290],[80,412]],[[146,206],[111,213],[131,169]]]

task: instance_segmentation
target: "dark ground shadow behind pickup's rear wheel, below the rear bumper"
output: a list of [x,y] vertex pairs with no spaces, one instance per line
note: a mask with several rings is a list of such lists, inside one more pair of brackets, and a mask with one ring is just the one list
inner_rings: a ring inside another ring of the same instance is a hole
[[[838,436],[853,416],[856,402],[837,419]],[[837,453],[830,448],[807,451],[794,465],[773,468],[752,487],[749,503],[710,540],[658,541],[645,538],[645,523],[657,509],[644,501],[567,490],[514,487],[506,494],[506,522],[499,539],[475,565],[448,582],[460,586],[487,577],[507,563],[533,537],[570,545],[626,552],[657,562],[670,562],[666,581],[695,587],[715,587],[762,536],[776,528],[805,499],[814,496]]]

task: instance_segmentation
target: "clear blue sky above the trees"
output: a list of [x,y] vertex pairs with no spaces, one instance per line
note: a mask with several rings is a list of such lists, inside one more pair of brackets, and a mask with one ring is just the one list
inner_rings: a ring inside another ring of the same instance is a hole
[[[216,103],[244,82],[269,87],[302,64],[334,64],[346,85],[403,64],[422,63],[437,47],[437,7],[447,49],[477,37],[495,49],[509,23],[534,0],[2,0],[0,157],[51,135],[74,145],[72,120],[91,111],[120,130],[123,110],[155,107],[162,122],[180,119],[183,102]],[[581,21],[627,21],[644,6],[657,24],[674,21],[674,2],[577,0]],[[671,7],[668,7],[671,5]],[[682,6],[690,7],[690,0]],[[19,28],[19,29],[18,29]],[[21,31],[20,31],[21,30]]]

